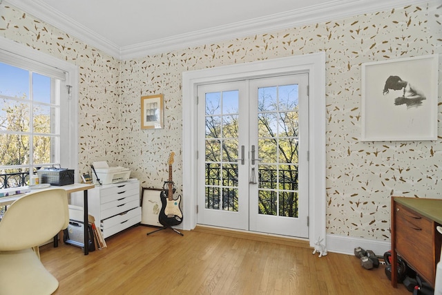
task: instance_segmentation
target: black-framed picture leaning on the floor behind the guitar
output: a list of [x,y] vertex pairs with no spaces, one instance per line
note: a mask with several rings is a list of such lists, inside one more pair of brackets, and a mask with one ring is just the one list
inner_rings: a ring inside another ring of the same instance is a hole
[[141,224],[154,225],[155,227],[162,227],[158,221],[160,210],[162,207],[160,193],[162,189],[148,189],[143,187],[141,193]]

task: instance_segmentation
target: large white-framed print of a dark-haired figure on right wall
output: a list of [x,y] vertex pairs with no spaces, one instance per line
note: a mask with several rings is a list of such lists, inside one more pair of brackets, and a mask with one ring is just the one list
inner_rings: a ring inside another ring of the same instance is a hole
[[436,140],[438,66],[438,55],[363,64],[361,140]]

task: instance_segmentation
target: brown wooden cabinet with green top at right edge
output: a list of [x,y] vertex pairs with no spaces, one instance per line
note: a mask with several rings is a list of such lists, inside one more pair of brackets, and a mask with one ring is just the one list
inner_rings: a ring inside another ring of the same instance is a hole
[[392,285],[397,287],[397,255],[434,287],[441,256],[442,200],[392,197]]

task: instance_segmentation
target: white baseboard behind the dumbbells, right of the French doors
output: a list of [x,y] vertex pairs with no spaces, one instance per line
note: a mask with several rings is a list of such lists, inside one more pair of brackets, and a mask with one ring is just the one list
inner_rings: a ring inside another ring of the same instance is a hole
[[390,242],[380,240],[369,240],[367,238],[354,238],[327,234],[327,251],[354,255],[354,248],[361,247],[365,250],[372,250],[374,254],[383,256],[385,251],[391,249]]

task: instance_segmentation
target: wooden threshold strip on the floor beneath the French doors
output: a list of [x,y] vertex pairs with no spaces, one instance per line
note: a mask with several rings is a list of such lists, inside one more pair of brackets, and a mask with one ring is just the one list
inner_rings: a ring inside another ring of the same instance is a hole
[[225,227],[211,227],[209,225],[197,225],[193,231],[205,234],[216,234],[220,236],[230,236],[233,238],[244,238],[247,240],[257,240],[260,242],[273,242],[273,244],[287,245],[300,248],[311,248],[308,239],[288,236],[278,236],[273,234],[258,233],[254,231],[242,231],[240,229],[228,229]]

